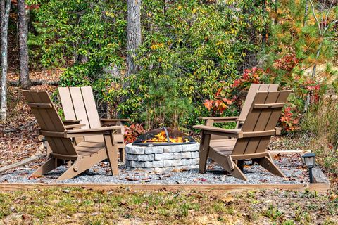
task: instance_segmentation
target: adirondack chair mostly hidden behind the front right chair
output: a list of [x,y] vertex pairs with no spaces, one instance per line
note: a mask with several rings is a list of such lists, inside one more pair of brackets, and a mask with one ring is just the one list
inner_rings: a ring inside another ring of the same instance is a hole
[[199,117],[199,119],[205,120],[207,126],[213,126],[214,123],[236,122],[236,128],[239,128],[245,122],[255,94],[258,91],[277,91],[278,86],[278,84],[251,84],[238,117]]

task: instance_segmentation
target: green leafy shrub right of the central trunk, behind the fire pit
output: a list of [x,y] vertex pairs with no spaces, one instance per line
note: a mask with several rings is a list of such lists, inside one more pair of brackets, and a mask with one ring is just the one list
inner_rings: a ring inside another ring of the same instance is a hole
[[[118,110],[146,127],[189,127],[209,115],[204,101],[230,86],[237,68],[255,44],[247,41],[253,20],[229,4],[143,1],[142,70],[127,78],[126,101]],[[241,1],[236,7],[249,4]]]

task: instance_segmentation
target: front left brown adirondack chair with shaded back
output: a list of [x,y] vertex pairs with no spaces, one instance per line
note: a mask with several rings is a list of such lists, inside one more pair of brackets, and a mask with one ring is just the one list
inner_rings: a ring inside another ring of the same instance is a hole
[[[108,158],[111,172],[118,174],[118,148],[114,144],[113,131],[119,126],[96,129],[73,129],[84,124],[64,125],[47,91],[23,91],[27,104],[32,109],[37,122],[51,148],[48,159],[32,176],[41,176],[56,167],[67,165],[68,169],[58,180],[70,179]],[[72,138],[102,136],[104,143],[82,141],[75,144]]]

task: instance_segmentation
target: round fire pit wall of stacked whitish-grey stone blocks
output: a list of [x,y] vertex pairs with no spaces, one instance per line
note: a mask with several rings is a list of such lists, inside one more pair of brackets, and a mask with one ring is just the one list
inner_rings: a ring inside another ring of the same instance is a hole
[[163,146],[125,146],[126,169],[172,172],[199,167],[199,143]]

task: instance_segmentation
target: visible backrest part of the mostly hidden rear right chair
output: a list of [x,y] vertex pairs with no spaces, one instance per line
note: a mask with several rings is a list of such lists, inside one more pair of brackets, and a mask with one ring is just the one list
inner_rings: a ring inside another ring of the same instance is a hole
[[255,94],[258,91],[277,91],[277,89],[278,84],[251,84],[241,114],[239,115],[239,120],[246,120],[253,98],[255,98]]

